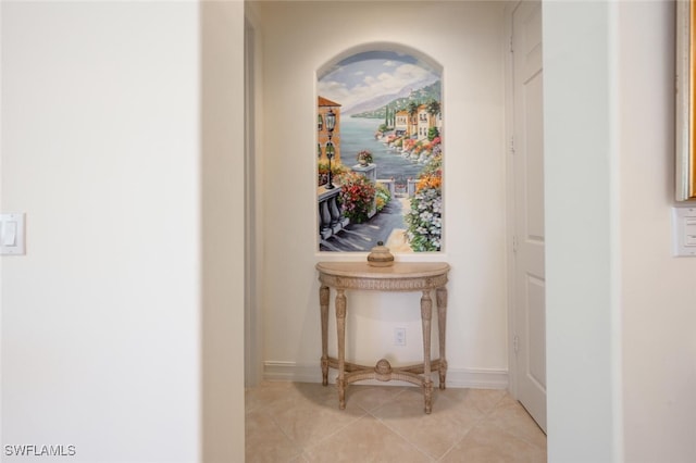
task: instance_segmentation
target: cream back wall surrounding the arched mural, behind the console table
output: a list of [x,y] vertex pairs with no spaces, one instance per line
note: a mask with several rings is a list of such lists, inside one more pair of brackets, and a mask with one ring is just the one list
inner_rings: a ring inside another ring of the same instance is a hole
[[[315,72],[348,49],[389,41],[444,67],[446,252],[399,258],[452,266],[450,385],[507,384],[502,9],[498,2],[260,2],[266,374],[321,378],[314,264],[336,255],[316,253]],[[365,363],[421,359],[418,301],[414,293],[351,293],[348,355]],[[407,327],[406,348],[394,346],[395,326]]]

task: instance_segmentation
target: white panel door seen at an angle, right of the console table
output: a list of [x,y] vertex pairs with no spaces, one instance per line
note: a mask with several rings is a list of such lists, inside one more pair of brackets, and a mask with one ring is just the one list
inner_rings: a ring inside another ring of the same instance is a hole
[[520,402],[546,431],[546,277],[542,3],[512,13],[514,283],[513,351]]

